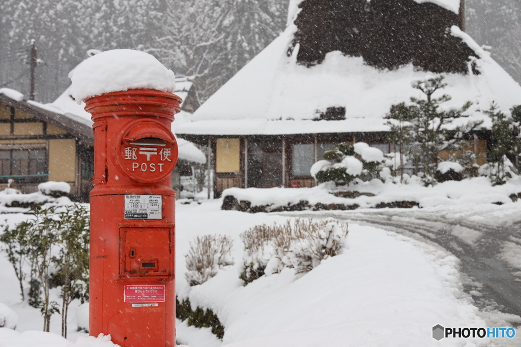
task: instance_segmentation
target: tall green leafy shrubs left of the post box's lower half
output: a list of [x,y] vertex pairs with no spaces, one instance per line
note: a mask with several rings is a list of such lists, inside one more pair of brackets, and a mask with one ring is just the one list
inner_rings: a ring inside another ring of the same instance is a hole
[[[32,217],[27,221],[4,227],[1,250],[13,265],[22,300],[24,281],[29,281],[28,303],[41,309],[44,330],[48,331],[52,314],[61,312],[66,337],[68,306],[78,296],[83,300],[89,287],[89,211],[79,204],[65,208],[37,204],[29,213]],[[30,273],[23,264],[28,264]],[[61,286],[61,310],[50,301],[49,290],[54,286]]]

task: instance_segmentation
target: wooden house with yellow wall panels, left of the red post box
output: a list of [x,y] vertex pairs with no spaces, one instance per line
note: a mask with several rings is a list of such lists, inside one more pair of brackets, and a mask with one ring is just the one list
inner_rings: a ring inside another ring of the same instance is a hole
[[93,172],[92,127],[51,106],[0,89],[0,186],[9,178],[23,193],[46,181],[71,185],[72,197],[88,197]]

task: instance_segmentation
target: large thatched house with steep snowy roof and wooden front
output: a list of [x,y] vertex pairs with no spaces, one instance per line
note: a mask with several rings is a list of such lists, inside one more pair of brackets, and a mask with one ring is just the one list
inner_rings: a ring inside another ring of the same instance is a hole
[[484,121],[468,143],[484,163],[481,111],[495,101],[508,112],[521,87],[462,31],[463,9],[463,0],[292,1],[286,30],[176,133],[215,153],[216,197],[229,187],[310,187],[311,165],[339,142],[392,151],[390,107],[421,97],[412,82],[443,75],[447,107],[473,102],[458,121]]

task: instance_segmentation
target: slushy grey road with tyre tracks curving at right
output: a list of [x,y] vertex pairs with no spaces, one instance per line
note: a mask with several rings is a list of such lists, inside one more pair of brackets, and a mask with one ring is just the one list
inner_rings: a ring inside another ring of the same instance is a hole
[[[382,209],[299,213],[373,225],[436,243],[461,260],[465,291],[482,311],[521,316],[521,213],[519,205],[457,209]],[[286,215],[290,215],[289,213]],[[295,216],[294,213],[291,215]]]

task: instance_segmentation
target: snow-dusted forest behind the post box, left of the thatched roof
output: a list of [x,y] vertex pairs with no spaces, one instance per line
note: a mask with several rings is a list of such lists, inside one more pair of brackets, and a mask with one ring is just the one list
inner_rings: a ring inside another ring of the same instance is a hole
[[194,75],[206,100],[284,29],[288,0],[2,0],[0,87],[29,94],[36,41],[37,101],[54,100],[88,49],[149,52]]

